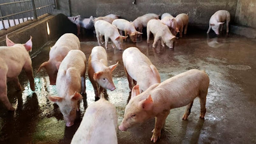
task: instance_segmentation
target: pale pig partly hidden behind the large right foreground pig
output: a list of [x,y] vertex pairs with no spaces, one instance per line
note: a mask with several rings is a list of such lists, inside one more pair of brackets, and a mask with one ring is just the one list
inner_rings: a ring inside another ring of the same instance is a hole
[[133,88],[133,82],[140,85],[140,92],[147,90],[153,84],[161,83],[157,68],[137,47],[125,49],[122,59],[130,90]]

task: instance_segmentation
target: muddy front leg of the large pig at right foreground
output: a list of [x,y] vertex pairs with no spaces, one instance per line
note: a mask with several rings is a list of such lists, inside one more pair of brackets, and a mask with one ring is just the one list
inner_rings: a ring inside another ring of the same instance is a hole
[[155,128],[152,131],[153,135],[151,137],[151,141],[153,140],[153,142],[156,142],[157,139],[160,138],[161,129],[164,126],[165,119],[167,118],[169,113],[170,113],[170,111],[165,111],[164,113],[157,115],[157,117],[155,119]]

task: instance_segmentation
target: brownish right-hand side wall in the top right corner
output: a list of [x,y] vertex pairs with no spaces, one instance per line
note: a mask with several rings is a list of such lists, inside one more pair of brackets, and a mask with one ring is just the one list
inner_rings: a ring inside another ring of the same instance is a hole
[[256,28],[256,0],[238,0],[235,22]]

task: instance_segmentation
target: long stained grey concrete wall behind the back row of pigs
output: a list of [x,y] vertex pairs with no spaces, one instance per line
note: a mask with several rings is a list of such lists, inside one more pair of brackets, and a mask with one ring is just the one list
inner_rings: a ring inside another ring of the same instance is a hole
[[[105,16],[114,13],[127,20],[134,20],[146,13],[188,13],[190,25],[205,25],[217,10],[227,10],[231,21],[236,14],[237,0],[70,0],[71,15],[82,17]],[[68,3],[67,3],[68,4]],[[208,25],[206,25],[207,27]]]

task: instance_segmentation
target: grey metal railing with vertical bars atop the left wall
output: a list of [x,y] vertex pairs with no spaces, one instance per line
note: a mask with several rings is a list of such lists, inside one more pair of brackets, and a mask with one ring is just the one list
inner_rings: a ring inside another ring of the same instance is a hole
[[1,0],[0,30],[53,13],[56,0]]

